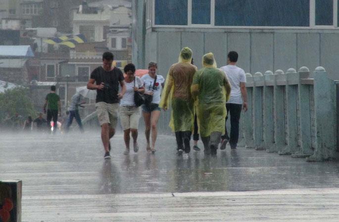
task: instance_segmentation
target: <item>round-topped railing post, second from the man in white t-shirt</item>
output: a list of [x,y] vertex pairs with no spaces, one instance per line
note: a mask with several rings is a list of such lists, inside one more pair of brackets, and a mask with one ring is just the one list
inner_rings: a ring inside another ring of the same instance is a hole
[[254,107],[254,145],[256,150],[264,150],[262,136],[262,102],[264,78],[262,73],[257,72],[253,75],[253,107]]

